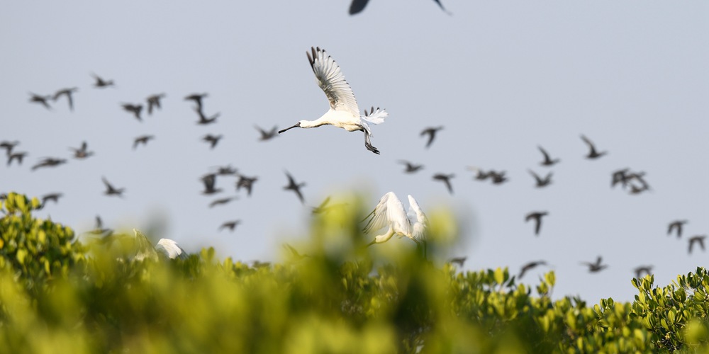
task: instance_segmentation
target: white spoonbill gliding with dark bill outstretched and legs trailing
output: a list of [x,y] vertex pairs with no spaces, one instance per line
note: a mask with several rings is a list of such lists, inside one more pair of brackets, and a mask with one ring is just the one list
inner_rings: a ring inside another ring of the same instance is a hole
[[328,96],[330,110],[317,120],[301,120],[296,125],[280,130],[278,133],[281,134],[294,127],[314,128],[328,124],[343,128],[348,132],[360,130],[364,132],[364,146],[367,147],[367,150],[379,154],[379,150],[373,147],[369,140],[369,137],[372,137],[372,131],[369,130],[367,122],[374,124],[384,122],[388,113],[383,109],[376,108],[375,110],[372,107],[369,113],[364,110],[364,115],[359,115],[357,100],[354,99],[354,93],[352,93],[350,84],[345,81],[345,75],[342,74],[340,66],[320,47],[311,47],[311,50],[313,55],[310,52],[306,52],[306,55],[308,55],[308,61],[318,80],[318,86],[323,89],[325,96]]

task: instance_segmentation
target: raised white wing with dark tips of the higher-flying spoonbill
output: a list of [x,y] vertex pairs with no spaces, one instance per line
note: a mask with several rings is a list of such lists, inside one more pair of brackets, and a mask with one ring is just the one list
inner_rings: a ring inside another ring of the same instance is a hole
[[345,75],[342,74],[340,66],[320,47],[311,47],[311,50],[312,56],[310,52],[306,52],[308,61],[318,80],[318,86],[323,89],[325,96],[328,96],[330,108],[333,110],[345,110],[355,117],[359,117],[357,100],[354,99],[352,88],[345,81]]

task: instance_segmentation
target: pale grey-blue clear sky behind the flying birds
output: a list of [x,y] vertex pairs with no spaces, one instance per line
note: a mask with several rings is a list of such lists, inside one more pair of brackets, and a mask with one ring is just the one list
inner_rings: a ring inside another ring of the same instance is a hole
[[[461,224],[450,256],[464,270],[546,260],[525,275],[557,273],[554,296],[631,300],[633,268],[653,265],[657,285],[705,265],[689,236],[708,234],[709,4],[704,1],[372,0],[349,1],[12,1],[0,13],[0,140],[21,142],[23,164],[0,164],[0,192],[60,192],[38,212],[84,232],[105,226],[151,229],[189,252],[277,261],[281,244],[308,234],[310,207],[357,192],[372,208],[393,191],[424,211],[447,206]],[[386,108],[372,126],[375,155],[361,132],[289,130],[259,141],[255,125],[279,128],[328,109],[305,52],[327,50],[364,109]],[[116,86],[94,89],[91,73]],[[30,92],[77,87],[74,111],[47,110]],[[165,93],[143,122],[121,108]],[[191,93],[208,93],[196,125]],[[420,131],[443,126],[431,147]],[[216,149],[201,142],[221,134]],[[133,149],[139,135],[155,135]],[[584,159],[586,135],[608,154]],[[79,161],[82,141],[96,154]],[[545,147],[561,162],[539,165]],[[67,164],[30,167],[55,156]],[[403,173],[398,160],[423,164]],[[200,177],[231,164],[258,176],[252,195],[219,178],[223,193],[201,195]],[[507,171],[503,185],[474,181],[468,166]],[[644,171],[650,190],[610,188],[610,174]],[[552,171],[547,188],[527,172]],[[286,190],[289,171],[306,205]],[[454,194],[434,173],[454,173]],[[126,189],[103,195],[101,176]],[[238,196],[210,208],[217,197]],[[527,212],[549,212],[539,236]],[[240,219],[235,232],[218,231]],[[687,219],[681,239],[667,224]],[[151,235],[156,236],[156,235]],[[363,236],[369,238],[370,236]],[[401,246],[393,239],[383,247]],[[581,262],[603,256],[608,268]]]

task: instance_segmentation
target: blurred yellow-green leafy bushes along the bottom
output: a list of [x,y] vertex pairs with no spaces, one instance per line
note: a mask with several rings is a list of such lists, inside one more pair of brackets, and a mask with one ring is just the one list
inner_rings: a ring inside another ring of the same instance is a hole
[[666,287],[633,279],[634,302],[553,301],[553,272],[532,291],[506,268],[436,266],[457,233],[445,210],[430,212],[432,262],[413,247],[364,247],[362,215],[335,210],[313,219],[310,239],[284,248],[284,261],[252,266],[213,249],[136,261],[132,235],[82,244],[69,227],[35,219],[38,206],[15,193],[1,205],[4,353],[709,350],[704,268]]

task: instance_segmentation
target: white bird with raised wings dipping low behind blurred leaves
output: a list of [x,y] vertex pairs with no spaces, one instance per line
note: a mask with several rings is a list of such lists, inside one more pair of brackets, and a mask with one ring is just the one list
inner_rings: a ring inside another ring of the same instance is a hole
[[[412,224],[411,219],[414,217],[416,221]],[[423,243],[425,256],[428,218],[426,218],[426,215],[418,206],[418,202],[411,195],[408,196],[408,214],[403,209],[401,200],[396,198],[396,194],[389,192],[381,197],[379,204],[364,219],[367,218],[369,218],[369,221],[364,226],[364,232],[367,234],[383,227],[389,227],[384,234],[374,236],[374,241],[367,244],[367,246],[389,241],[394,235],[399,237],[406,236],[418,245]]]

